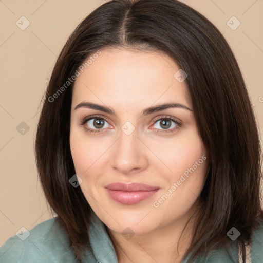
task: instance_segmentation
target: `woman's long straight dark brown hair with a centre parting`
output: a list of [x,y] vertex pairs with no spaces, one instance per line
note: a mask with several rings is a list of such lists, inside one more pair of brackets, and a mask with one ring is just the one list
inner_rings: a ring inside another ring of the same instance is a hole
[[55,63],[37,127],[35,155],[47,201],[77,258],[89,246],[91,208],[80,187],[69,183],[75,174],[69,146],[74,82],[68,87],[65,83],[91,54],[120,46],[165,52],[188,75],[185,82],[211,167],[200,195],[202,216],[185,256],[191,253],[193,260],[227,245],[227,232],[235,227],[241,233],[238,242],[245,261],[245,244],[263,219],[261,151],[253,109],[222,34],[199,12],[176,0],[112,0],[101,5],[72,32]]

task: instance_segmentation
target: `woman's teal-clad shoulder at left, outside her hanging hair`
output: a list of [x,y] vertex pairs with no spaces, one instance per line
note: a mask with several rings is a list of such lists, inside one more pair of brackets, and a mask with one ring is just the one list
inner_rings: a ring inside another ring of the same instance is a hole
[[2,263],[18,262],[73,262],[66,231],[58,218],[48,219],[28,232],[17,233],[0,247]]

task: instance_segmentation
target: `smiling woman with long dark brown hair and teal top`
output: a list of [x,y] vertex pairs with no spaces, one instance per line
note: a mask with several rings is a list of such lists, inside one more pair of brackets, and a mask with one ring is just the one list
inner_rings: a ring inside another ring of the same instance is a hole
[[82,21],[35,154],[57,217],[8,239],[3,262],[262,262],[248,92],[221,33],[176,0],[113,0]]

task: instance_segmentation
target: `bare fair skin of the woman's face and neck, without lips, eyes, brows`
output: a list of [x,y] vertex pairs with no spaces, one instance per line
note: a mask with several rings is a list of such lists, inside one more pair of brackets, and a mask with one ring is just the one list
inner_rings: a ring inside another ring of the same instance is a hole
[[[153,202],[171,189],[187,168],[207,156],[185,81],[175,79],[178,65],[161,52],[124,48],[101,51],[73,88],[70,148],[76,173],[82,179],[81,190],[108,227],[118,262],[180,262],[190,245],[193,224],[183,232],[177,250],[179,237],[198,207],[208,159],[158,208]],[[82,102],[108,106],[116,116],[85,107],[74,109]],[[163,103],[180,103],[191,110],[176,107],[141,115],[144,108]],[[106,119],[95,134],[85,127],[95,130],[98,126],[93,121],[98,117],[81,124],[93,115]],[[155,123],[165,117],[173,117],[181,125],[171,121],[168,129],[173,132],[165,132],[162,120]],[[122,130],[127,121],[135,128],[130,135]],[[138,204],[121,204],[104,188],[113,182],[139,182],[160,190]],[[129,238],[122,234],[125,229],[131,234]]]

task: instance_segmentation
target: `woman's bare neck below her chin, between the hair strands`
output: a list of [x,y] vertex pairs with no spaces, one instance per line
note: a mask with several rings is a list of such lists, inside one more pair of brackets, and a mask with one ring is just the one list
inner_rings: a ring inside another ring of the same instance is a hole
[[[191,245],[194,218],[187,225],[186,218],[180,218],[168,226],[157,228],[151,232],[134,235],[127,239],[121,233],[108,230],[114,245],[119,263],[179,263]],[[184,229],[185,227],[185,229]]]

